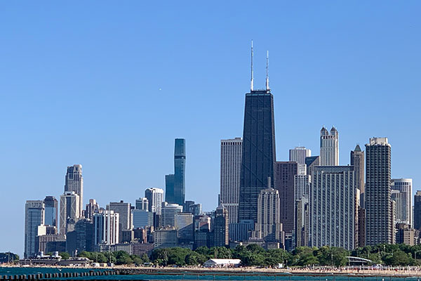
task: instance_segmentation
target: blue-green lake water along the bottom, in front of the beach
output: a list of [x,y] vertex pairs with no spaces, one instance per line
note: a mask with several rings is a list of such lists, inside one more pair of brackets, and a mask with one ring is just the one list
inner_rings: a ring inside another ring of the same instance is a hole
[[[38,273],[82,273],[92,268],[2,268],[0,275],[29,275]],[[66,278],[60,278],[65,280]],[[69,279],[69,278],[67,278]],[[356,275],[291,275],[285,273],[156,273],[140,275],[100,275],[71,277],[72,280],[216,280],[216,281],[421,281],[420,277],[362,277]]]

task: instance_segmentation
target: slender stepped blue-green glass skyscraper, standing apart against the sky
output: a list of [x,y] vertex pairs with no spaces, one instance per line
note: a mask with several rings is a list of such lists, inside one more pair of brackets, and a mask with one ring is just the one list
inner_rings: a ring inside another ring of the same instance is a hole
[[186,149],[185,139],[175,138],[174,174],[166,175],[165,200],[168,203],[185,204],[185,168]]

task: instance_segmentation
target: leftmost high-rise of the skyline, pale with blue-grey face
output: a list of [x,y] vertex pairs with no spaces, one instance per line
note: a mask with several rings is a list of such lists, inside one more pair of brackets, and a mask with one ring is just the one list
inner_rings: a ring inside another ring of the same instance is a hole
[[27,200],[25,204],[25,258],[36,254],[38,226],[44,224],[44,200]]

